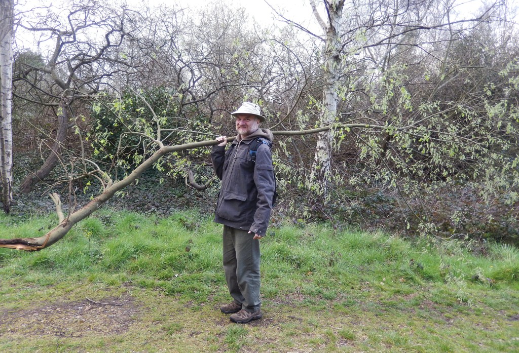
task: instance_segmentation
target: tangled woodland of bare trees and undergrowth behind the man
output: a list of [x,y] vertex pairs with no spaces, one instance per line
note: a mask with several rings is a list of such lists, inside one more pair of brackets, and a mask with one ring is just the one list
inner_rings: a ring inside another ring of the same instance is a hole
[[273,223],[517,244],[513,2],[470,13],[457,0],[310,3],[319,31],[282,13],[257,23],[225,3],[12,4],[4,208],[48,212],[58,192],[65,213],[98,195],[92,211],[211,213],[208,146],[235,135],[229,112],[248,100],[277,132]]

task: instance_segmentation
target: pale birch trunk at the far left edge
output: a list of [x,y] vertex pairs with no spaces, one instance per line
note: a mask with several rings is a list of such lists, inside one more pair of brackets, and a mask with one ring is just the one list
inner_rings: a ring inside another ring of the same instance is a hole
[[2,112],[0,114],[0,178],[2,203],[9,214],[12,201],[12,26],[13,0],[0,2],[0,77]]

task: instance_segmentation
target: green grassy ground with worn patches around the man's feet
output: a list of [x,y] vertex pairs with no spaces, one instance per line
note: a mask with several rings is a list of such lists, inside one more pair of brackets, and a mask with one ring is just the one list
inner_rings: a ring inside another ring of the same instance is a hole
[[[2,237],[53,216],[0,216]],[[221,225],[101,210],[39,252],[0,249],[0,351],[519,351],[519,250],[284,224],[262,239],[264,318],[230,323]],[[95,304],[102,303],[102,304]]]

